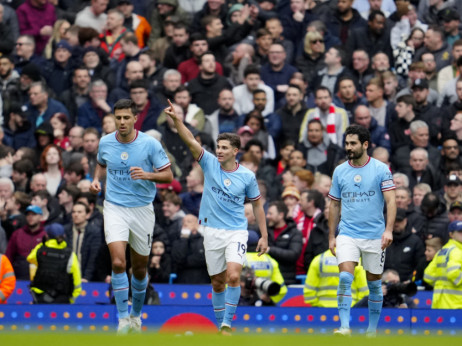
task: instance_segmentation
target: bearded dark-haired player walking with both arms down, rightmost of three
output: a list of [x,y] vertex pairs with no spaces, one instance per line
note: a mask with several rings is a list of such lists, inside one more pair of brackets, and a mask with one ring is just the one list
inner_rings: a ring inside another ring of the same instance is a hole
[[[385,249],[393,240],[395,184],[390,169],[367,155],[369,143],[370,133],[366,128],[358,125],[347,128],[345,150],[348,161],[335,169],[329,192],[332,199],[329,210],[329,249],[334,256],[337,251],[340,270],[337,302],[341,326],[335,331],[338,335],[351,334],[351,283],[360,257],[369,287],[367,336],[376,335],[382,311],[381,274]],[[384,200],[387,203],[386,224],[383,216]],[[337,226],[339,235],[335,238]]]

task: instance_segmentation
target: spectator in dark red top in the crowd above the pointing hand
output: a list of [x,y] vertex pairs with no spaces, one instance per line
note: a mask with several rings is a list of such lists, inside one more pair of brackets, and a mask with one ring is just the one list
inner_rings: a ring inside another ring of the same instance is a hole
[[[191,50],[192,57],[178,65],[178,71],[181,73],[181,83],[187,83],[199,76],[201,72],[201,57],[209,51],[207,39],[202,34],[193,33],[189,41],[189,49]],[[223,67],[221,64],[215,62],[214,67],[214,72],[223,76]]]

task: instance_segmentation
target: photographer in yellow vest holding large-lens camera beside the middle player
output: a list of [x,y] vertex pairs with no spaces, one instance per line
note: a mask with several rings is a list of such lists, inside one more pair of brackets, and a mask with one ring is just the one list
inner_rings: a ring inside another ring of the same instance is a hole
[[274,306],[287,293],[287,286],[278,263],[269,255],[246,253],[246,265],[241,273],[239,305]]

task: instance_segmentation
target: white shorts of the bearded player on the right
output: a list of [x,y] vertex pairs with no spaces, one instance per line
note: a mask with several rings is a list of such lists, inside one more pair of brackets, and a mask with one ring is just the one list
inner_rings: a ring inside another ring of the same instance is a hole
[[337,236],[337,263],[357,262],[371,274],[382,274],[385,264],[385,250],[382,239],[358,239],[346,235]]

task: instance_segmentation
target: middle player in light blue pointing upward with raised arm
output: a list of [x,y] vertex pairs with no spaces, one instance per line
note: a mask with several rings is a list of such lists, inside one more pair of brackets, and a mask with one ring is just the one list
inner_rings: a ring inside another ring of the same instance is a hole
[[[217,157],[205,151],[177,116],[175,107],[165,109],[178,134],[204,171],[204,192],[199,211],[199,231],[204,236],[205,259],[212,281],[212,304],[218,328],[230,334],[231,322],[241,293],[240,275],[247,250],[247,219],[244,200],[252,202],[262,237],[257,252],[268,250],[265,213],[255,174],[236,162],[240,138],[222,133],[217,139]],[[226,284],[228,287],[226,288]]]

